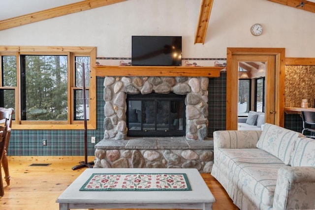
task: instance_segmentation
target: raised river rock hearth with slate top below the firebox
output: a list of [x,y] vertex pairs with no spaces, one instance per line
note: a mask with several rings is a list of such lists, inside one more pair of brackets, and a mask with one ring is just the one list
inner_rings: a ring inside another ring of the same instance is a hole
[[200,173],[211,173],[213,166],[212,140],[101,140],[95,148],[94,168],[195,168]]

